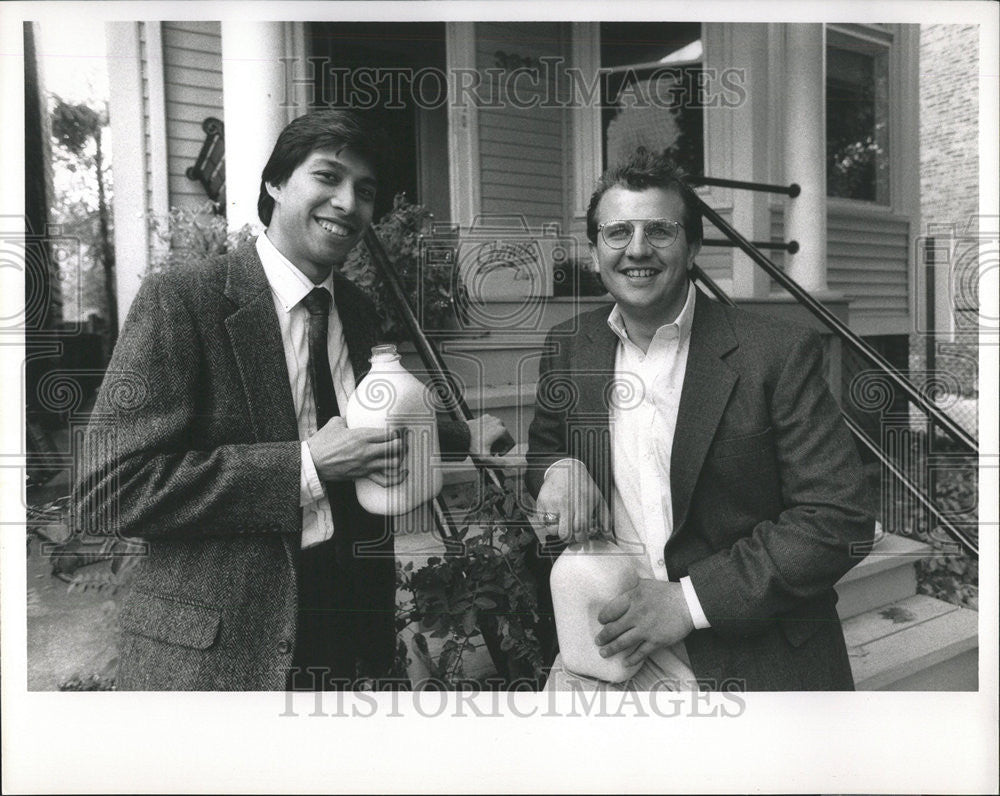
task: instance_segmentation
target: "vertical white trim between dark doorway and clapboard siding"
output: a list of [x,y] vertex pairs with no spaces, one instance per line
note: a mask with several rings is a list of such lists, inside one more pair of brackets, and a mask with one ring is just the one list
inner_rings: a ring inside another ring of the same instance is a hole
[[[474,22],[445,25],[448,74],[456,69],[476,68]],[[454,79],[454,78],[453,78]],[[468,95],[464,95],[468,96]],[[468,228],[479,215],[481,203],[479,168],[479,109],[474,100],[459,106],[448,103],[448,182],[451,222]]]

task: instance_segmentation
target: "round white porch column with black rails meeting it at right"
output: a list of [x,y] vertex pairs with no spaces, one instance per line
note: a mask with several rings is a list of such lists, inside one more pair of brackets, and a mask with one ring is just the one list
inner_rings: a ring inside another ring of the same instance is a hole
[[785,240],[788,275],[810,293],[826,282],[826,35],[821,24],[785,27],[785,178],[802,193],[788,201]]

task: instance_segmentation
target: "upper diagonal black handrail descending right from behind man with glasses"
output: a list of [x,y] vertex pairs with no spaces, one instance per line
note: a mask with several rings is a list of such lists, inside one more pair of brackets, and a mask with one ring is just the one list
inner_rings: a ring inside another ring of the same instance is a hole
[[928,417],[933,418],[934,422],[936,422],[938,426],[952,438],[952,440],[954,440],[958,445],[966,448],[969,453],[978,455],[979,445],[972,438],[972,436],[954,420],[942,412],[937,406],[924,398],[924,396],[920,394],[920,391],[914,387],[908,379],[900,375],[887,359],[885,359],[875,349],[852,332],[839,318],[816,301],[816,299],[810,296],[809,293],[803,290],[799,284],[795,282],[795,280],[785,274],[759,250],[755,249],[750,241],[733,229],[733,227],[730,226],[729,223],[727,223],[726,220],[715,210],[709,207],[690,186],[685,185],[682,182],[680,183],[680,189],[691,201],[697,204],[705,218],[711,221],[723,235],[732,240],[751,260],[764,269],[768,276],[787,290],[800,304],[805,306],[806,309],[819,318],[827,327],[832,329],[837,336],[841,338],[841,340],[846,342],[851,347],[855,353],[868,360],[872,365],[883,372],[896,387],[902,390],[907,398],[919,406]]

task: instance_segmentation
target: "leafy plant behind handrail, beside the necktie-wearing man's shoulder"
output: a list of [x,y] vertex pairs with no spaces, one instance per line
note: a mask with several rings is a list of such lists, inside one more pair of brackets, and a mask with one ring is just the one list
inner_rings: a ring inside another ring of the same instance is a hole
[[[426,207],[410,202],[400,193],[393,199],[392,210],[372,228],[395,266],[421,326],[425,330],[441,330],[447,329],[456,317],[456,308],[464,306],[464,287],[453,268],[422,267],[420,239],[430,230],[432,218]],[[341,273],[375,304],[383,339],[400,341],[409,337],[403,316],[365,246],[355,246],[351,250]]]

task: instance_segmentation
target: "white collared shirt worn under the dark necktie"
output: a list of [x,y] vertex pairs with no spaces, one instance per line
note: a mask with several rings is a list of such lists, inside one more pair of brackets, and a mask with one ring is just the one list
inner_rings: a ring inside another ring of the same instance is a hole
[[[316,400],[309,378],[309,311],[302,299],[314,287],[326,288],[333,296],[333,274],[319,285],[296,268],[263,233],[257,237],[257,254],[260,255],[264,274],[271,286],[274,310],[281,328],[281,344],[288,366],[288,382],[292,389],[295,419],[302,440],[302,467],[299,488],[299,505],[302,507],[302,547],[325,542],[333,536],[333,512],[316,472],[316,465],[309,453],[306,440],[316,433]],[[327,351],[333,390],[341,414],[347,409],[347,399],[354,392],[354,371],[348,358],[344,328],[337,314],[337,305],[330,302],[330,320],[327,331]]]

